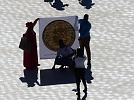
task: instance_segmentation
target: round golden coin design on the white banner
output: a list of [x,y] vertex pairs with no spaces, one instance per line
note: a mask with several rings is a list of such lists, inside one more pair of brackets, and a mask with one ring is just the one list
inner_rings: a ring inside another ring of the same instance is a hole
[[44,28],[42,34],[44,45],[55,52],[59,48],[58,41],[60,39],[62,39],[66,45],[72,46],[75,41],[75,37],[76,34],[73,26],[64,20],[55,20],[50,22]]

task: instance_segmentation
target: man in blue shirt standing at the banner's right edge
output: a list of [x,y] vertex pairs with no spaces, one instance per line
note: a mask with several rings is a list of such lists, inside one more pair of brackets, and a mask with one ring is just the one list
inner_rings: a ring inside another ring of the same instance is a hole
[[88,14],[84,15],[83,19],[79,19],[80,24],[80,37],[79,37],[79,45],[80,48],[84,50],[84,47],[86,48],[86,53],[88,57],[87,65],[91,64],[91,51],[90,51],[90,29],[91,29],[91,23],[88,21]]

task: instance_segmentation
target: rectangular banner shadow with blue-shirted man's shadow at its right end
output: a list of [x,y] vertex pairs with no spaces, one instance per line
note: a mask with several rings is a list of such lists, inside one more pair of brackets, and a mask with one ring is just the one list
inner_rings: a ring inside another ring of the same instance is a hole
[[[91,73],[86,69],[87,83],[91,83]],[[75,83],[75,76],[73,71],[66,68],[64,71],[55,69],[42,69],[40,70],[40,86],[57,85],[57,84],[70,84]]]

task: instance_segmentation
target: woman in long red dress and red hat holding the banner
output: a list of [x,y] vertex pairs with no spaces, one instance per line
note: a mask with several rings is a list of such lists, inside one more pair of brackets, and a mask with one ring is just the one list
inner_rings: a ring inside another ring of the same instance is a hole
[[25,37],[31,43],[30,52],[24,51],[23,53],[23,65],[28,70],[33,70],[37,68],[40,64],[38,64],[38,55],[37,55],[37,43],[36,43],[36,33],[33,28],[36,25],[39,18],[35,19],[34,22],[27,22],[26,27],[27,31],[25,33]]

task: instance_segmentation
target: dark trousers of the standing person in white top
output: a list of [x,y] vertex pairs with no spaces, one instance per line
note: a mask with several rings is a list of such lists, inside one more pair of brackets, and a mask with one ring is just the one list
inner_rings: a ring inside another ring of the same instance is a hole
[[85,68],[74,68],[74,75],[76,78],[76,86],[78,92],[80,92],[80,81],[82,80],[85,89],[87,89],[87,84],[85,80]]

